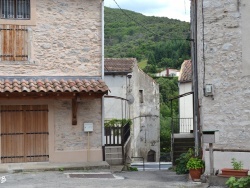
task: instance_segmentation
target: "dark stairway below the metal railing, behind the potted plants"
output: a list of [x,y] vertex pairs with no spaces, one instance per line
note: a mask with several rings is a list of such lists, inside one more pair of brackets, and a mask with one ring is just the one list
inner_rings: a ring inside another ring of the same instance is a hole
[[173,143],[173,165],[175,165],[175,160],[182,154],[186,153],[189,148],[194,149],[193,134],[174,134]]

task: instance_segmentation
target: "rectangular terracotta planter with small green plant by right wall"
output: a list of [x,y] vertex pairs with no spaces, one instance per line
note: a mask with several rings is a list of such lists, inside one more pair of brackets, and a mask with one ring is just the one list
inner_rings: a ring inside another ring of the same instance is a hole
[[243,169],[243,163],[242,161],[236,161],[235,158],[232,158],[232,166],[233,168],[223,168],[221,169],[221,174],[220,176],[223,177],[246,177],[248,176],[248,170]]

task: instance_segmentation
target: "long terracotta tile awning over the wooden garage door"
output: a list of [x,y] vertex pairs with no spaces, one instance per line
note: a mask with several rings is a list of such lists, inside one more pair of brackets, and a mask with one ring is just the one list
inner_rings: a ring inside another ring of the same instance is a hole
[[103,80],[0,80],[0,93],[4,92],[108,92]]

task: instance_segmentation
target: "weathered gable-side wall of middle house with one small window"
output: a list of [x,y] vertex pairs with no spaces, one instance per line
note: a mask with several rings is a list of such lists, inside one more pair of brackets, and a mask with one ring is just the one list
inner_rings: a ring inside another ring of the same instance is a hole
[[[132,156],[144,157],[150,150],[155,151],[155,159],[160,156],[160,104],[159,85],[147,74],[134,66],[131,78],[134,103],[130,106],[132,125]],[[143,91],[143,103],[139,90]]]

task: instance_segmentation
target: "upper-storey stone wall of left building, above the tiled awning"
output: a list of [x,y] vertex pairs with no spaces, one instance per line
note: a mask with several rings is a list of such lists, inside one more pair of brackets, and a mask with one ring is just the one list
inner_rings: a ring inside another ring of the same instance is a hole
[[100,0],[36,0],[28,30],[29,61],[0,62],[1,76],[101,76]]

